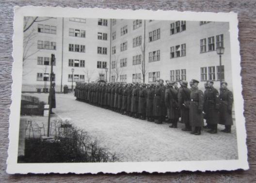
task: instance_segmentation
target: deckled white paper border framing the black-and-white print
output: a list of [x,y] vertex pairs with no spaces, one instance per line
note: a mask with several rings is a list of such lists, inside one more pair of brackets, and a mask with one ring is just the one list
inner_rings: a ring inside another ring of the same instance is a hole
[[[215,171],[249,169],[247,162],[245,118],[243,116],[243,98],[240,76],[240,46],[238,41],[237,14],[208,13],[208,12],[177,12],[151,10],[112,10],[102,8],[61,8],[61,7],[15,7],[14,37],[13,37],[13,85],[12,105],[10,107],[9,149],[7,159],[7,173],[118,173],[118,172],[179,172]],[[172,162],[118,162],[118,163],[17,163],[18,134],[20,119],[20,100],[22,86],[22,54],[23,54],[23,17],[84,17],[84,18],[123,18],[123,19],[154,19],[154,20],[187,20],[187,21],[222,21],[229,22],[232,79],[234,92],[234,108],[236,118],[238,160],[215,161],[172,161]],[[99,17],[100,16],[100,17]]]

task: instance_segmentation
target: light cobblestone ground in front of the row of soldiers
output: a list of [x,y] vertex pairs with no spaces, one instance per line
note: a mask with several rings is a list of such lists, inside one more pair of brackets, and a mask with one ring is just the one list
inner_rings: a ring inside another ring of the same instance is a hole
[[[48,95],[30,93],[40,100],[47,101]],[[90,136],[117,153],[124,162],[138,161],[196,161],[237,159],[237,139],[235,125],[232,133],[218,134],[202,131],[201,136],[169,128],[167,123],[155,124],[134,119],[108,109],[95,107],[76,101],[72,94],[56,94],[56,109],[53,111],[60,118],[71,121],[86,130]]]

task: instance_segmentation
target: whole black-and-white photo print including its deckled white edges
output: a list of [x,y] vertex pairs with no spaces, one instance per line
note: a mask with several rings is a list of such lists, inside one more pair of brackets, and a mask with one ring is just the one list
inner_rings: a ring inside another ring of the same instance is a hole
[[39,9],[16,9],[10,172],[246,169],[236,14]]

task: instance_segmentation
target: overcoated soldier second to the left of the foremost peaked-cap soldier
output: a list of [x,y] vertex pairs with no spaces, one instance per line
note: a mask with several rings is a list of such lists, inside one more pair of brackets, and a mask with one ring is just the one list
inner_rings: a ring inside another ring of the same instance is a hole
[[165,89],[165,106],[167,107],[168,120],[172,123],[170,128],[177,128],[178,122],[178,92],[173,87],[174,82],[167,81]]

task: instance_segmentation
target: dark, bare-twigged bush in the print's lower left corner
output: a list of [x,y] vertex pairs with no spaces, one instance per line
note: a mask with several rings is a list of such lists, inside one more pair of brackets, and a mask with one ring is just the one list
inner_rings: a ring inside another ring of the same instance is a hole
[[[70,123],[56,122],[57,136],[53,142],[40,138],[25,141],[25,156],[18,157],[18,163],[78,163],[78,162],[115,162],[115,153],[98,146],[96,140]],[[58,131],[58,133],[57,133]]]

